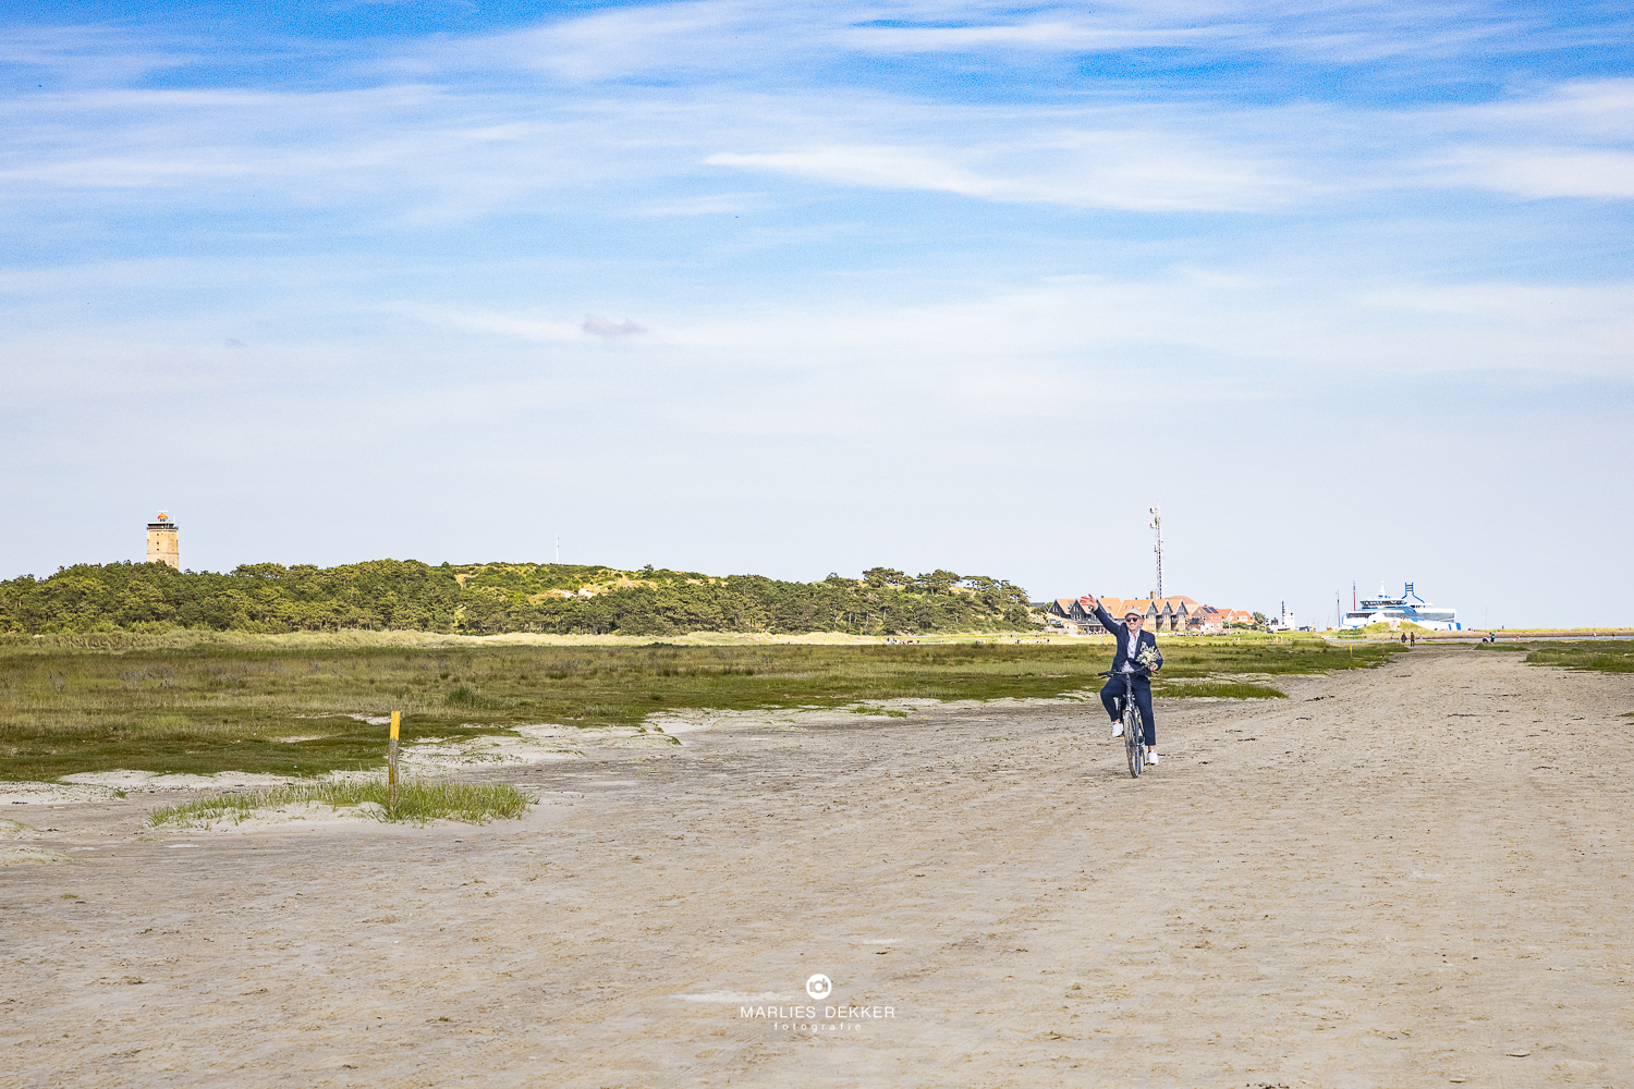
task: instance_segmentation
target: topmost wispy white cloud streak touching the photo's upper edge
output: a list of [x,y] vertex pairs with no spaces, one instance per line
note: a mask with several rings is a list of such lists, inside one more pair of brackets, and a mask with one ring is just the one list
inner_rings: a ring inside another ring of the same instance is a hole
[[810,78],[833,57],[959,54],[1016,64],[1028,56],[1185,49],[1198,56],[1299,54],[1366,64],[1456,57],[1510,47],[1557,49],[1613,36],[1611,26],[1554,26],[1480,5],[1413,3],[1056,3],[1018,15],[982,3],[840,3],[822,8],[752,0],[649,3],[551,20],[500,34],[441,39],[404,51],[392,67],[531,70],[570,83]]

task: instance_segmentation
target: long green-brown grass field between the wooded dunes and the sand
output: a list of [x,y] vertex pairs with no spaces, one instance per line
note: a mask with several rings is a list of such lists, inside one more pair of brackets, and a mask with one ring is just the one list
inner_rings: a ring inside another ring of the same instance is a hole
[[[87,637],[90,638],[90,637]],[[1041,643],[732,643],[722,647],[291,645],[181,648],[0,645],[0,779],[114,769],[307,779],[381,767],[402,740],[510,733],[523,723],[639,725],[683,709],[1047,699],[1096,691],[1109,638]],[[1325,673],[1395,645],[1319,638],[1160,638],[1162,678]],[[892,709],[895,710],[895,709]],[[874,713],[874,712],[864,712]],[[892,718],[904,717],[889,715]]]

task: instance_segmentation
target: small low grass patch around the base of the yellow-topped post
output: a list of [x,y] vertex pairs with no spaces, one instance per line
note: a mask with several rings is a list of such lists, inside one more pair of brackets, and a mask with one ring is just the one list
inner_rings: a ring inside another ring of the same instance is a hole
[[382,808],[366,811],[364,816],[379,821],[425,825],[435,820],[453,820],[466,825],[485,825],[495,816],[518,818],[534,800],[510,784],[405,782],[397,787],[397,805],[392,807],[384,782],[302,782],[242,793],[217,793],[170,805],[149,813],[147,823],[152,828],[163,825],[199,828],[222,818],[240,823],[255,810],[276,810],[314,802],[335,810],[373,802]]

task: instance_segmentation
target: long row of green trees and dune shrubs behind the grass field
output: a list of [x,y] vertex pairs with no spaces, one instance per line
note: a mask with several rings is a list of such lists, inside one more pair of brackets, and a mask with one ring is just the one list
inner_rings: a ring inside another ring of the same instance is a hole
[[0,632],[320,632],[399,629],[461,635],[678,635],[1026,630],[1026,591],[984,575],[791,583],[760,575],[623,571],[569,563],[369,560],[319,568],[245,563],[227,573],[165,563],[80,563],[0,581]]

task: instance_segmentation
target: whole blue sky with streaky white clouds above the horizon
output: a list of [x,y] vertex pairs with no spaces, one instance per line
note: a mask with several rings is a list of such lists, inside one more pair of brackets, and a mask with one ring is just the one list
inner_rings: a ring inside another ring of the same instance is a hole
[[1634,7],[21,0],[0,576],[1634,625]]

